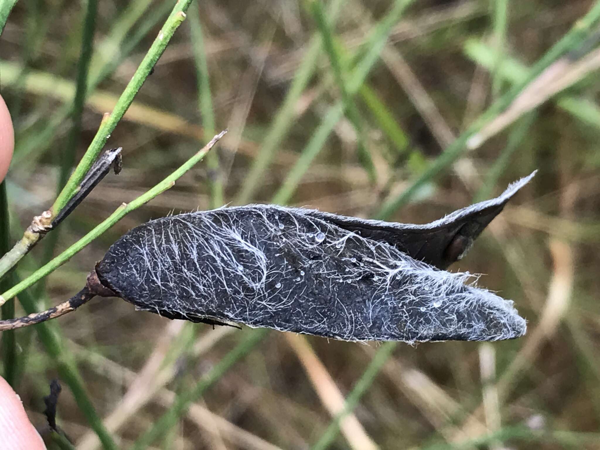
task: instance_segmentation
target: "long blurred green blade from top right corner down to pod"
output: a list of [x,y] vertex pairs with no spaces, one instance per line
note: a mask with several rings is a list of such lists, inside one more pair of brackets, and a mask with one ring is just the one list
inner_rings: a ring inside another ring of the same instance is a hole
[[598,24],[600,20],[600,0],[596,0],[590,8],[589,12],[577,21],[577,23],[568,31],[554,46],[548,50],[544,56],[532,66],[527,73],[526,79],[520,83],[516,83],[506,94],[502,95],[477,119],[466,131],[461,133],[457,139],[442,152],[433,163],[430,164],[427,170],[416,178],[410,186],[395,198],[388,199],[377,214],[378,219],[386,220],[398,209],[402,208],[409,202],[410,198],[419,190],[425,183],[429,182],[438,173],[447,169],[454,161],[456,161],[466,148],[467,141],[472,137],[476,137],[481,128],[488,122],[492,121],[499,113],[508,107],[512,101],[517,98],[518,94],[539,74],[544,71],[550,64],[556,61],[557,58],[564,55],[569,50],[577,48],[582,41],[585,40],[590,29]]

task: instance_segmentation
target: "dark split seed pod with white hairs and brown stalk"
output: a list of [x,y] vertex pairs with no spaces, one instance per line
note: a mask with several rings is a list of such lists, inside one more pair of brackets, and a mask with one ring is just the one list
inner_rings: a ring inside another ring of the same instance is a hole
[[533,175],[425,225],[275,205],[160,218],[116,241],[70,301],[0,322],[0,330],[57,317],[101,295],[170,319],[346,341],[519,337],[526,322],[512,301],[466,284],[468,273],[442,269]]

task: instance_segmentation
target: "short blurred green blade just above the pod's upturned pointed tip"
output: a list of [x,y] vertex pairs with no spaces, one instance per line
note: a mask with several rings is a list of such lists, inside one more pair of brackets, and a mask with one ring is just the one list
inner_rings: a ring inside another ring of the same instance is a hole
[[511,157],[515,151],[520,147],[521,142],[525,139],[527,132],[531,128],[531,125],[537,117],[536,112],[526,114],[512,127],[511,133],[508,136],[508,142],[506,142],[500,155],[496,158],[494,163],[488,169],[483,184],[479,191],[473,197],[473,203],[481,202],[492,197],[494,189],[498,185],[500,176],[511,167]]

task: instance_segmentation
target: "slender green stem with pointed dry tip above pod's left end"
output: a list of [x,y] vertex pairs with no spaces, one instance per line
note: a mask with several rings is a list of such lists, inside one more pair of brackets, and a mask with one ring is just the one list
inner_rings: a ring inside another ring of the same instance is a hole
[[144,203],[149,202],[154,199],[154,197],[158,196],[158,194],[163,193],[167,189],[173,187],[175,184],[175,180],[181,177],[185,172],[191,169],[194,164],[198,163],[198,161],[202,160],[202,158],[208,153],[208,151],[212,148],[212,146],[217,143],[221,137],[224,136],[226,131],[221,131],[221,133],[217,134],[214,138],[212,138],[211,142],[206,144],[204,148],[202,148],[199,152],[197,152],[193,157],[189,160],[185,161],[175,172],[171,173],[171,175],[167,176],[167,178],[163,179],[160,183],[155,185],[151,190],[146,191],[146,193],[137,197],[137,199],[131,201],[130,203],[123,203],[119,208],[113,212],[106,220],[102,223],[98,224],[91,232],[83,236],[83,238],[79,239],[79,241],[75,242],[75,244],[71,245],[71,247],[67,248],[67,250],[63,251],[59,256],[55,257],[52,261],[37,269],[34,273],[29,275],[29,277],[25,278],[25,280],[21,281],[16,286],[11,287],[2,295],[0,295],[0,305],[4,304],[8,299],[13,298],[23,289],[31,286],[37,281],[41,280],[41,278],[46,277],[48,274],[55,271],[57,268],[62,266],[65,262],[67,262],[71,257],[75,254],[79,253],[86,245],[90,242],[94,241],[98,236],[104,233],[107,229],[112,227],[115,223],[117,223],[121,218],[123,218],[126,214],[134,209],[139,208]]

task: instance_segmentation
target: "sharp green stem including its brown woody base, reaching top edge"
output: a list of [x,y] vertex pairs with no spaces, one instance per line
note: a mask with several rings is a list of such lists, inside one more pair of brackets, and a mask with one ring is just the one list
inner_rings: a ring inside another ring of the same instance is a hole
[[[104,117],[92,143],[89,145],[85,155],[83,155],[82,160],[77,164],[77,167],[68,179],[67,184],[56,198],[52,208],[34,218],[32,226],[29,226],[25,233],[23,233],[23,238],[17,242],[13,247],[13,250],[2,256],[2,259],[0,259],[0,277],[16,265],[16,263],[19,262],[19,260],[25,256],[35,244],[37,244],[43,234],[49,230],[52,218],[55,217],[55,215],[64,208],[68,200],[73,197],[83,177],[88,173],[89,168],[98,157],[98,154],[103,148],[104,143],[106,143],[110,133],[115,129],[116,124],[121,120],[131,102],[133,102],[133,98],[137,94],[137,91],[142,87],[143,82],[146,80],[146,77],[148,77],[152,67],[154,67],[158,58],[163,54],[170,38],[173,36],[179,25],[181,25],[181,22],[184,21],[184,11],[187,10],[190,2],[191,0],[181,0],[176,3],[171,14],[158,33],[157,38],[155,38],[154,43],[152,43],[152,46],[148,50],[148,53],[146,53],[146,56],[140,63],[130,82],[125,87],[121,97],[119,97],[113,112],[110,113],[109,116]],[[38,223],[35,223],[36,221]]]

